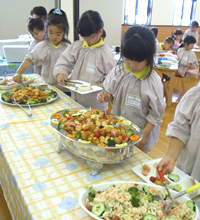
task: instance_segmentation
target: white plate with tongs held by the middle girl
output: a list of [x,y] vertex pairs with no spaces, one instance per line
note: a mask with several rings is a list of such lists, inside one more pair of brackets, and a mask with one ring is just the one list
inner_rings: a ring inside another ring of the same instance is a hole
[[[61,86],[63,86],[63,85],[61,85]],[[68,81],[66,81],[66,85],[63,87],[68,88],[74,92],[77,92],[77,93],[83,94],[83,95],[102,90],[102,87],[91,86],[91,83],[88,83],[88,82],[85,82],[82,80],[68,80]]]

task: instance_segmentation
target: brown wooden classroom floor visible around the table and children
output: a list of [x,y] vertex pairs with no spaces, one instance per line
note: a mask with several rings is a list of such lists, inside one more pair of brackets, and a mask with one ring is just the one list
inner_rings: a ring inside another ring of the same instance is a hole
[[[196,80],[195,77],[196,75],[186,76],[186,78],[184,79],[185,91],[187,91],[188,89],[194,86],[197,85],[200,86],[200,80],[199,79]],[[174,90],[173,93],[173,103],[170,107],[167,107],[165,111],[165,116],[163,118],[163,123],[161,125],[159,141],[148,153],[148,155],[153,159],[161,158],[167,152],[169,146],[169,138],[165,137],[165,132],[169,122],[171,122],[174,119],[174,112],[178,104],[177,100],[180,97],[180,91],[181,91],[181,84],[177,81],[176,90]],[[0,187],[0,220],[12,220],[1,187]]]

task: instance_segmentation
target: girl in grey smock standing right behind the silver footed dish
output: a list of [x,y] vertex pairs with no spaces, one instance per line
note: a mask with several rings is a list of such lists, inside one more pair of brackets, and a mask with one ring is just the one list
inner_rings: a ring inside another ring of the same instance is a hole
[[[122,39],[120,63],[106,77],[103,86],[111,100],[113,113],[134,122],[142,129],[143,138],[137,144],[145,153],[157,143],[165,112],[163,85],[153,70],[155,37],[146,27],[129,28]],[[105,93],[99,102],[107,102]]]

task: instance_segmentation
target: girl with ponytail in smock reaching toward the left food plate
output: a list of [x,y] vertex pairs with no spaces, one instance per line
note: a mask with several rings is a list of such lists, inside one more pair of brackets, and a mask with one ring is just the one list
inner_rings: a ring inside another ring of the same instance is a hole
[[13,79],[19,82],[22,73],[31,65],[42,65],[42,77],[45,82],[63,90],[62,87],[59,87],[53,76],[53,69],[59,56],[70,45],[69,40],[64,37],[65,34],[68,35],[68,31],[69,24],[66,14],[62,10],[54,9],[53,13],[48,16],[48,39],[38,43],[37,46],[26,55],[25,60],[18,68]]

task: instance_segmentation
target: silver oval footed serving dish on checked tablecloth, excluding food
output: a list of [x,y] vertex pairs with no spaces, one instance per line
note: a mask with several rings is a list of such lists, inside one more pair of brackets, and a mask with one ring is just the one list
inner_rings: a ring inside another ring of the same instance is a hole
[[[71,110],[81,110],[83,108],[75,108]],[[85,108],[84,108],[85,109]],[[89,109],[85,109],[90,111]],[[69,111],[69,109],[65,109],[56,113],[63,114],[64,111]],[[124,119],[120,116],[114,116],[117,119]],[[59,153],[64,146],[71,153],[86,159],[88,161],[89,167],[91,168],[91,174],[96,175],[99,170],[103,167],[103,164],[117,164],[124,162],[132,157],[133,155],[133,147],[142,139],[142,132],[140,128],[132,123],[131,126],[135,127],[134,134],[139,135],[140,139],[136,142],[128,141],[128,145],[124,147],[99,147],[95,144],[83,144],[81,142],[76,141],[75,139],[71,139],[67,137],[69,134],[65,130],[58,130],[57,125],[53,125],[51,120],[53,118],[53,114],[49,118],[49,123],[55,132],[58,133],[60,137],[59,148],[57,152]],[[130,127],[130,126],[127,126]]]

